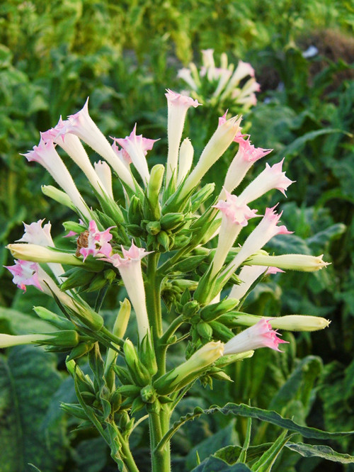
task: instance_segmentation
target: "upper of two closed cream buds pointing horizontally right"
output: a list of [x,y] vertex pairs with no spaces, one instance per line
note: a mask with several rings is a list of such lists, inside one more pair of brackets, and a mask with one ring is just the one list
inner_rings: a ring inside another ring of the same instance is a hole
[[260,266],[277,266],[280,269],[290,271],[316,272],[328,266],[330,262],[324,262],[320,256],[307,256],[306,254],[283,254],[281,256],[266,256],[256,254],[251,256],[245,264],[258,264]]

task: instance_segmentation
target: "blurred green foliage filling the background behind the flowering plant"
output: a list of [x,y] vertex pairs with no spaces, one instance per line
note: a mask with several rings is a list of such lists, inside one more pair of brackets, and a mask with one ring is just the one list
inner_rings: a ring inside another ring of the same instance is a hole
[[[277,237],[273,247],[277,254],[324,251],[324,258],[332,262],[315,275],[278,275],[272,283],[258,285],[247,308],[258,315],[280,311],[321,315],[331,320],[331,327],[311,336],[297,335],[281,356],[256,352],[229,373],[234,379],[229,388],[217,382],[213,390],[195,386],[178,413],[185,415],[195,406],[207,408],[210,401],[224,405],[250,399],[253,406],[294,416],[303,425],[354,429],[353,29],[350,1],[2,1],[1,332],[22,334],[28,325],[35,332],[50,330],[32,312],[33,305],[41,303],[38,292],[19,293],[2,268],[12,263],[3,246],[21,237],[22,221],[45,217],[53,225],[52,234],[60,237],[61,222],[69,216],[40,192],[41,184],[51,183],[50,176],[18,154],[38,143],[38,131],[55,125],[60,115],[79,110],[90,96],[91,116],[103,133],[123,137],[137,122],[139,133],[163,138],[150,162],[164,162],[164,89],[183,88],[176,79],[178,69],[190,60],[199,64],[200,50],[213,48],[217,57],[227,52],[229,62],[249,61],[256,69],[262,91],[244,123],[250,126],[256,146],[274,149],[270,164],[286,156],[287,175],[297,181],[287,191],[287,201],[280,202],[285,210],[282,220],[295,235],[287,240]],[[318,52],[306,58],[303,52],[310,45]],[[190,113],[187,126],[192,140],[199,140],[197,151],[207,138],[203,113],[199,109]],[[216,126],[217,116],[212,111],[209,116]],[[226,167],[227,159],[219,165]],[[74,167],[70,170],[79,178]],[[84,179],[76,181],[89,202]],[[264,201],[264,207],[276,203],[278,196],[270,198],[273,201]],[[108,323],[117,305],[118,297],[110,293]],[[183,356],[176,352],[176,364]],[[1,354],[4,472],[35,470],[28,463],[42,472],[114,470],[101,439],[76,430],[75,420],[59,409],[59,402],[74,400],[63,361],[30,347]],[[276,427],[256,421],[253,428],[254,445],[273,441],[278,434]],[[242,444],[245,431],[242,418],[207,415],[190,422],[176,434],[174,470],[197,466],[196,451],[202,461],[221,446]],[[143,425],[137,427],[132,439],[142,471],[149,470],[144,432]],[[353,439],[329,445],[349,454],[354,451]],[[331,463],[326,467],[353,470]],[[273,470],[321,468],[319,459],[307,459],[305,466],[287,449]]]

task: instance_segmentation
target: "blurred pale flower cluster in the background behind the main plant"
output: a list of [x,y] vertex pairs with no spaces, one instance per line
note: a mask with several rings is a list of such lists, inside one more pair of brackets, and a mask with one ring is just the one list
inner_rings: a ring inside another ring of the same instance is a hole
[[214,50],[202,50],[200,69],[193,62],[178,71],[178,77],[188,85],[188,93],[202,103],[215,106],[228,103],[229,108],[249,110],[257,103],[260,86],[248,62],[239,61],[236,69],[228,64],[225,52],[220,56],[220,67],[215,67]]

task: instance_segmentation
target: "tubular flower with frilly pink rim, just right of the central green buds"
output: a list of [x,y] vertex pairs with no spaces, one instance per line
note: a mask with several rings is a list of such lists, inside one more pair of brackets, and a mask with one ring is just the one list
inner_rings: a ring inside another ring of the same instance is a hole
[[222,268],[222,265],[229,254],[229,250],[234,245],[236,237],[239,235],[242,227],[248,224],[250,218],[256,217],[257,210],[251,210],[244,201],[227,193],[227,200],[220,200],[214,208],[222,212],[222,223],[219,231],[219,240],[217,250],[212,260],[211,277],[215,276]]

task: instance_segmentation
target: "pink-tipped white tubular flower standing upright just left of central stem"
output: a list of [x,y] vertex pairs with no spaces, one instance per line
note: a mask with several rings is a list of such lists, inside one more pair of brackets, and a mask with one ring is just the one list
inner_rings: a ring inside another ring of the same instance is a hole
[[128,250],[122,247],[122,253],[123,257],[119,254],[113,254],[113,256],[106,259],[102,258],[102,260],[110,262],[119,270],[127,294],[135,310],[135,315],[137,316],[139,342],[142,342],[145,335],[150,332],[150,328],[149,318],[147,317],[144,281],[142,279],[141,259],[150,253],[146,252],[145,249],[136,247],[134,242],[132,242]]

